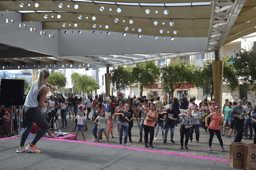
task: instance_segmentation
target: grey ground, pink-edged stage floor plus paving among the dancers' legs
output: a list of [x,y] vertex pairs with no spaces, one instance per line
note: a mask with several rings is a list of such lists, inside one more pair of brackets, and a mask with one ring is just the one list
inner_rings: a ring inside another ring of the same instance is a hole
[[[106,113],[106,116],[109,114]],[[89,117],[92,117],[92,112]],[[68,115],[67,118],[69,118]],[[61,127],[61,119],[57,121]],[[61,128],[61,130],[72,132],[75,122],[72,119],[67,119],[67,121],[68,128]],[[196,142],[194,134],[193,141],[187,145],[189,150],[180,150],[180,126],[177,126],[173,139],[175,144],[169,141],[170,132],[167,136],[167,143],[164,144],[160,130],[158,140],[153,140],[155,148],[145,148],[144,139],[143,142],[138,142],[139,128],[137,123],[134,123],[133,143],[127,142],[127,147],[120,147],[119,135],[116,135],[118,132],[116,121],[113,120],[114,138],[109,138],[111,145],[107,145],[108,142],[104,135],[100,144],[92,142],[94,140],[93,120],[86,120],[86,124],[89,128],[84,131],[86,142],[83,142],[81,132],[78,134],[77,142],[42,138],[37,143],[38,149],[41,150],[39,154],[16,153],[20,138],[0,141],[1,169],[158,169],[167,167],[167,169],[232,169],[229,167],[229,144],[234,140],[233,137],[231,139],[222,137],[226,150],[222,152],[219,141],[214,136],[212,151],[208,151],[209,132],[203,132],[204,129],[199,128],[201,143]],[[25,145],[32,140],[33,138],[27,139]],[[253,140],[242,140],[242,142],[252,143]]]

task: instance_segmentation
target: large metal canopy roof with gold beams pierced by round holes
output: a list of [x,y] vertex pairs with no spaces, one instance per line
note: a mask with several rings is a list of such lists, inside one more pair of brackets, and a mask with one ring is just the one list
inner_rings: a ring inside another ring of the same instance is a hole
[[0,69],[113,67],[219,51],[256,32],[255,7],[254,0],[0,0]]

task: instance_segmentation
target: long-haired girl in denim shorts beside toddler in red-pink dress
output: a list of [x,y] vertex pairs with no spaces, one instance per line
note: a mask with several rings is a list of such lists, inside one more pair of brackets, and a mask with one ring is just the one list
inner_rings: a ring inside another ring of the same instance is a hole
[[[98,123],[97,123],[97,120],[99,120]],[[100,143],[100,132],[103,131],[103,133],[104,133],[104,135],[106,136],[106,139],[107,139],[107,141],[108,141],[108,144],[110,145],[110,143],[109,143],[109,137],[108,137],[108,135],[107,135],[106,128],[105,128],[105,123],[104,123],[104,122],[108,123],[108,122],[107,122],[107,119],[106,119],[106,117],[105,117],[105,112],[104,112],[104,110],[101,110],[99,116],[94,120],[94,123],[98,125],[98,143]]]

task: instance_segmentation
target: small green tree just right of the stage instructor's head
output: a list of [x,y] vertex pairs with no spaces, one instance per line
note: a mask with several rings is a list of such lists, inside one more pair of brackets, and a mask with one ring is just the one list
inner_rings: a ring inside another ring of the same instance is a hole
[[[60,72],[50,73],[49,79],[47,81],[49,84],[56,87],[56,89],[65,87],[67,83],[67,78]],[[51,88],[49,88],[51,91]],[[53,92],[55,96],[55,91]]]

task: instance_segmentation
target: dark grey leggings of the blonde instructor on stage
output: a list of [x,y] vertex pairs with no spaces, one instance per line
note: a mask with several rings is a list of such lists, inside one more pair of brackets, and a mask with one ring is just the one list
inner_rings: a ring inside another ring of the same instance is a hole
[[35,145],[37,141],[44,136],[44,134],[48,131],[49,125],[45,116],[39,111],[38,107],[26,107],[23,106],[22,109],[23,115],[25,115],[25,121],[27,127],[25,128],[24,132],[22,133],[22,137],[20,139],[20,146],[24,146],[25,141],[31,131],[31,129],[35,124],[41,127],[41,129],[37,132],[35,138],[31,142],[31,144]]

